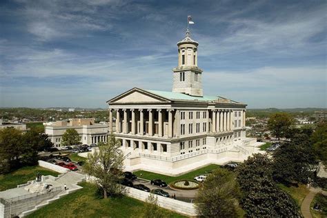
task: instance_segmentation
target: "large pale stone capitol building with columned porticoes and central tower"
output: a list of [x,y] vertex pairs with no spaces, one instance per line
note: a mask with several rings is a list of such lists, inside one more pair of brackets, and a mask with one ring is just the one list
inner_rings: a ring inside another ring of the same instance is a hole
[[261,143],[246,138],[246,104],[204,95],[199,43],[189,30],[177,46],[172,92],[132,88],[107,101],[109,131],[121,139],[126,170],[179,175],[259,152]]

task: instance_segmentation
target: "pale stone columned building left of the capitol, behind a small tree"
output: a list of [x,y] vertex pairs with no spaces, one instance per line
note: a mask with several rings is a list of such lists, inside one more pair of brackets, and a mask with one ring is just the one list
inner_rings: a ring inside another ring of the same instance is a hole
[[90,145],[91,143],[99,143],[107,141],[108,123],[95,123],[94,118],[89,119],[69,119],[67,121],[55,121],[43,123],[46,134],[54,143],[54,147],[61,147],[63,133],[68,129],[75,129],[81,137],[81,143]]

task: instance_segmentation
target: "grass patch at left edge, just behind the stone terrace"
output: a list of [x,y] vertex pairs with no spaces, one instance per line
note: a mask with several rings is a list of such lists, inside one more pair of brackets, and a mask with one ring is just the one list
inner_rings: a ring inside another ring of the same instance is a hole
[[41,166],[26,166],[6,175],[0,175],[0,191],[16,188],[19,184],[26,184],[27,181],[37,177],[37,172],[40,172],[41,175],[52,175],[54,177],[59,175],[58,172],[42,168]]

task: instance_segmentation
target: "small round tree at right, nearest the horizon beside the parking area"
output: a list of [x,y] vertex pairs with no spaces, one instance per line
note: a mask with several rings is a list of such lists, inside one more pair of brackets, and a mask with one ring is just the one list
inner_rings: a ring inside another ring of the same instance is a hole
[[286,112],[277,112],[268,119],[268,128],[277,139],[285,137],[290,126],[294,123],[293,117]]

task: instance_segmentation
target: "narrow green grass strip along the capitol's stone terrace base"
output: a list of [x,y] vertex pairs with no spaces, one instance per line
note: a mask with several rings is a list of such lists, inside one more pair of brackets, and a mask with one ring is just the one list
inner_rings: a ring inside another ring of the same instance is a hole
[[[172,181],[176,181],[179,179],[189,179],[189,180],[193,180],[194,177],[201,175],[201,174],[205,174],[206,172],[209,172],[211,170],[215,170],[219,168],[219,165],[216,164],[210,164],[208,166],[205,166],[204,168],[199,168],[198,170],[193,170],[191,172],[188,172],[184,175],[180,175],[178,177],[170,177],[170,176],[166,176],[166,175],[161,175],[161,174],[157,174],[155,172],[148,172],[148,171],[143,171],[143,170],[139,170],[139,171],[135,171],[133,172],[135,175],[137,175],[137,177],[142,178],[142,179],[148,179],[148,180],[152,180],[152,179],[162,179],[164,181],[166,181],[166,183],[170,183]],[[142,174],[142,176],[141,176]]]

